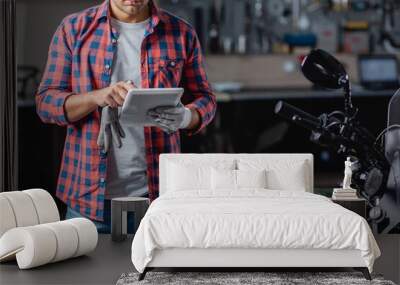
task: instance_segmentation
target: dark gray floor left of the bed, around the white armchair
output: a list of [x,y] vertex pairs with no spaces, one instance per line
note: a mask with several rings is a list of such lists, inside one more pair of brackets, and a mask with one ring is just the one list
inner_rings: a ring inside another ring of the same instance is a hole
[[134,271],[132,237],[121,243],[99,235],[95,251],[45,266],[19,270],[15,261],[0,264],[0,284],[115,284],[122,273]]

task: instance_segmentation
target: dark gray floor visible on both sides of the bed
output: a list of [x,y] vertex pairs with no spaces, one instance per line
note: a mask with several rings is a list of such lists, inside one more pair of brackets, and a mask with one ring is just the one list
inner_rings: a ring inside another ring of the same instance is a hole
[[[400,284],[400,235],[376,236],[376,240],[382,256],[375,263],[374,273]],[[15,261],[3,263],[0,284],[115,284],[122,273],[135,270],[131,243],[132,237],[117,243],[110,235],[99,235],[96,250],[87,256],[29,270],[19,270]]]

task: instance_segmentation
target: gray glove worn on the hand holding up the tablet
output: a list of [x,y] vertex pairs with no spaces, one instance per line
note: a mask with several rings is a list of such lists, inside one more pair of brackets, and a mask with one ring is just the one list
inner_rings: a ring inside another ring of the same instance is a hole
[[187,128],[192,121],[192,111],[182,103],[176,107],[160,106],[147,112],[148,117],[166,133]]

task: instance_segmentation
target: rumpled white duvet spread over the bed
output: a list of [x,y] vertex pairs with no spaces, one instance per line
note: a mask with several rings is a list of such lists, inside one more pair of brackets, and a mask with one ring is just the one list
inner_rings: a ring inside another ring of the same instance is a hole
[[165,248],[358,249],[370,271],[380,255],[359,215],[320,195],[265,189],[164,194],[134,237],[135,268]]

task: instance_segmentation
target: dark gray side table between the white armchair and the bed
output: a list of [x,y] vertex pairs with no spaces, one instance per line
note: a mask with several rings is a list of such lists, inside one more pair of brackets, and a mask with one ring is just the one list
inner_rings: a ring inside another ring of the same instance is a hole
[[127,236],[127,212],[134,212],[137,231],[140,221],[149,207],[149,199],[143,197],[121,197],[111,200],[111,239],[123,241]]

